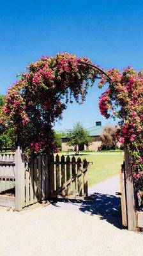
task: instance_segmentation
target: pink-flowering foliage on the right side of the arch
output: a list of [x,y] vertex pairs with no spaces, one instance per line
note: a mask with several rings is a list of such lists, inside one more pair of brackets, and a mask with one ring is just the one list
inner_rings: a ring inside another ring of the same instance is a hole
[[[119,118],[121,129],[117,136],[130,151],[133,179],[143,190],[143,73],[127,67],[120,72],[113,68],[111,77],[103,76],[99,86],[109,83],[109,88],[100,97],[100,111],[106,118]],[[140,193],[140,192],[139,192]]]

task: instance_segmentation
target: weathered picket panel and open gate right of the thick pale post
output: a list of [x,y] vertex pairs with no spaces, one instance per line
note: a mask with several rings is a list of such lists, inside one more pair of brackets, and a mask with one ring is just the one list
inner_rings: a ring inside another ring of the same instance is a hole
[[87,198],[87,166],[84,159],[42,154],[26,164],[24,206],[51,198]]

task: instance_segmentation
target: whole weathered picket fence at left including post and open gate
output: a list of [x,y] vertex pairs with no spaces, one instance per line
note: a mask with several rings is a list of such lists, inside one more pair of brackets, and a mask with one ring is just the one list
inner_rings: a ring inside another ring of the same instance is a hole
[[30,156],[26,161],[18,147],[15,155],[6,154],[0,159],[0,188],[15,191],[12,204],[8,198],[2,204],[4,197],[1,197],[0,205],[22,211],[28,205],[50,198],[87,198],[88,165],[86,159],[53,154]]

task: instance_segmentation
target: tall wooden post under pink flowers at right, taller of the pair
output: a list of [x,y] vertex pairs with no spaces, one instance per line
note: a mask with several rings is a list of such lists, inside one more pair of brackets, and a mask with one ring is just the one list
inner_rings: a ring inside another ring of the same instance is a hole
[[135,200],[133,192],[132,166],[128,149],[124,147],[125,175],[126,175],[126,206],[128,230],[135,230]]

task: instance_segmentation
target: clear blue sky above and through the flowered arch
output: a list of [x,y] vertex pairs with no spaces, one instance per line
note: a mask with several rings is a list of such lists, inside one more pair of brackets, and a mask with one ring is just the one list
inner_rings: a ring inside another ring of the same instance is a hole
[[[143,1],[8,0],[0,1],[0,94],[27,64],[41,55],[71,52],[103,68],[143,68]],[[102,93],[94,84],[86,102],[70,104],[56,129],[96,120],[108,124],[98,109]]]

